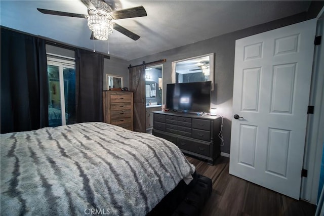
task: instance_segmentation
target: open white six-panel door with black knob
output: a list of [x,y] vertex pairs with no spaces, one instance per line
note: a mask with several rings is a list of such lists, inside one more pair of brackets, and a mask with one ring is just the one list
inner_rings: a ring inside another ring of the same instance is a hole
[[316,20],[236,40],[230,174],[299,199]]

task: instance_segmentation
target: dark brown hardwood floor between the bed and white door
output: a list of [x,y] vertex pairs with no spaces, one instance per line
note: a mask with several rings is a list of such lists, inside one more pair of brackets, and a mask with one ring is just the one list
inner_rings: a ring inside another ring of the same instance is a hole
[[219,157],[214,166],[188,157],[199,174],[212,179],[213,192],[200,216],[267,216],[315,214],[316,206],[281,195],[251,182],[229,175],[229,158]]

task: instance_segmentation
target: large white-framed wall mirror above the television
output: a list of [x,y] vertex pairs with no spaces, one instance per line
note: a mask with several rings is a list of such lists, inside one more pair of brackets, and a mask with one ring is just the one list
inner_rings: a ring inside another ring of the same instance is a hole
[[214,61],[214,53],[174,61],[172,82],[212,81],[212,90],[214,90]]

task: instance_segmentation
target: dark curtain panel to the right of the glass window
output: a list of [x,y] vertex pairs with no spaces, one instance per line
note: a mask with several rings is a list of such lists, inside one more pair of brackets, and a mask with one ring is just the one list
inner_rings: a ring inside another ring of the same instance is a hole
[[76,49],[76,122],[103,121],[103,60],[102,54]]

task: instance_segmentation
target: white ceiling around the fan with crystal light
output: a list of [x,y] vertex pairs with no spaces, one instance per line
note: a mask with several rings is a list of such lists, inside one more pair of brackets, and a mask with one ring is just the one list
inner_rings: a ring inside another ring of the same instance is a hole
[[[307,11],[309,1],[129,1],[123,9],[143,6],[147,17],[115,22],[141,37],[134,41],[114,31],[109,37],[111,56],[132,60],[217,35],[244,29]],[[93,50],[91,31],[82,18],[46,15],[36,8],[87,14],[79,0],[0,1],[1,25],[65,44]],[[121,8],[120,8],[121,9]],[[107,53],[107,41],[95,41],[97,52]]]

